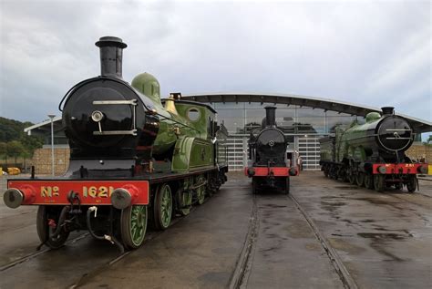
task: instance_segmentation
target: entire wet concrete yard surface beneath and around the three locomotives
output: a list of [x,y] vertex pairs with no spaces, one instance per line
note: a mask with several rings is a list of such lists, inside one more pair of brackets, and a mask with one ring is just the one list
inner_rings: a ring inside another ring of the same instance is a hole
[[[343,287],[293,201],[267,193],[258,195],[254,205],[250,181],[239,174],[231,174],[230,180],[190,216],[118,263],[103,266],[118,255],[116,247],[85,236],[3,270],[0,288],[67,287],[96,268],[102,269],[82,279],[82,287],[226,287],[242,252],[253,206],[258,235],[243,287]],[[292,179],[292,194],[358,287],[432,284],[432,181],[420,181],[415,194],[377,193],[325,179],[321,172],[303,172]],[[0,267],[35,252],[35,220],[36,207],[12,210],[0,201]]]

